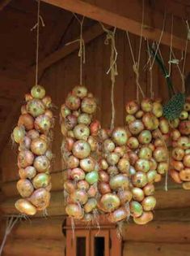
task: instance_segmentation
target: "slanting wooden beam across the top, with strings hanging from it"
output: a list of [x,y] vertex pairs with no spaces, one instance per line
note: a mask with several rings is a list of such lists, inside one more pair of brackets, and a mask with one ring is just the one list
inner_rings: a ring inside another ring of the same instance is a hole
[[[137,0],[126,1],[117,0],[115,2],[111,1],[95,1],[91,3],[91,0],[42,0],[52,4],[53,6],[60,7],[62,9],[76,12],[80,15],[87,16],[93,20],[98,20],[105,24],[127,30],[130,33],[141,35],[141,8]],[[136,7],[134,9],[134,7]],[[159,15],[155,11],[149,12],[150,18],[154,19],[158,17],[159,23],[157,26],[163,24],[163,15]],[[139,20],[140,19],[140,20]],[[159,41],[160,35],[162,33],[161,28],[156,28],[150,24],[145,24],[142,29],[142,36],[149,38],[153,41]],[[171,27],[171,26],[170,26]],[[171,34],[164,32],[162,43],[164,45],[171,45]],[[173,35],[173,47],[179,50],[185,49],[185,39]],[[188,52],[190,53],[190,46],[188,46]]]

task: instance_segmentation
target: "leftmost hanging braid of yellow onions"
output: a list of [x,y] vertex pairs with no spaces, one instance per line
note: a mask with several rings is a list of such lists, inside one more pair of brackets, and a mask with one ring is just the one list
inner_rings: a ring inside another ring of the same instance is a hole
[[52,100],[45,89],[35,85],[25,95],[25,104],[12,132],[12,139],[19,144],[17,189],[22,199],[15,207],[24,215],[35,215],[37,210],[49,206],[51,179],[49,175],[53,153],[50,150],[54,124],[50,110]]

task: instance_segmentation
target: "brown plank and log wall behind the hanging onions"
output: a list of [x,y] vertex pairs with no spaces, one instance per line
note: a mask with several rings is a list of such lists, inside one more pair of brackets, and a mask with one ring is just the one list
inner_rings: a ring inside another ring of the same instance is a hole
[[[137,59],[139,37],[131,37],[133,51]],[[96,38],[86,47],[87,62],[83,68],[84,85],[94,93],[99,102],[97,118],[103,127],[109,127],[111,119],[111,82],[106,75],[109,67],[110,46],[104,45],[105,35]],[[115,87],[116,125],[125,124],[125,102],[136,98],[136,85],[133,74],[133,63],[129,44],[124,32],[116,33],[116,48],[118,51],[118,72]],[[161,46],[163,58],[168,59],[169,48]],[[175,52],[181,58],[180,52]],[[150,96],[150,73],[144,71],[148,59],[146,41],[143,40],[140,63],[140,83],[147,96]],[[189,57],[188,57],[189,60]],[[187,70],[189,71],[189,62]],[[156,64],[153,69],[155,97],[167,99],[167,85],[158,71]],[[172,76],[176,88],[180,89],[181,80],[176,67],[172,67]],[[63,202],[63,180],[61,172],[61,132],[59,128],[59,107],[65,101],[67,93],[79,80],[78,52],[61,60],[47,70],[41,80],[47,92],[52,96],[57,106],[55,110],[56,128],[54,132],[52,179],[52,200],[48,209],[49,217],[37,215],[32,222],[19,223],[6,243],[3,255],[18,256],[61,256],[65,251],[65,238],[61,233],[61,224],[65,210]],[[19,116],[19,113],[18,113]],[[16,166],[16,147],[9,142],[1,155],[2,193],[4,201],[0,205],[2,215],[15,214],[14,203],[18,197],[15,189],[18,179]],[[123,255],[173,255],[188,256],[190,252],[190,200],[189,192],[180,189],[169,181],[169,191],[163,190],[163,183],[158,185],[158,199],[154,222],[146,227],[133,223],[125,224],[123,238],[125,241]],[[51,250],[53,249],[53,250]]]

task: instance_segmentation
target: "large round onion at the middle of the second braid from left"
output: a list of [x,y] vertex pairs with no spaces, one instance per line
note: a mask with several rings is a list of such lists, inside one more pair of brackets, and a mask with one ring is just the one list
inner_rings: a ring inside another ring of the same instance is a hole
[[76,158],[87,158],[91,154],[91,146],[87,141],[79,140],[74,142],[72,151]]

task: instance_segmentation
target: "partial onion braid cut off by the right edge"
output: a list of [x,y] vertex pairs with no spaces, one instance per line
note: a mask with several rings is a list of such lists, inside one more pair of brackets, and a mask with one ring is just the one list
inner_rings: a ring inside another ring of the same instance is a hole
[[171,124],[171,178],[190,189],[190,98],[186,99],[184,110]]

